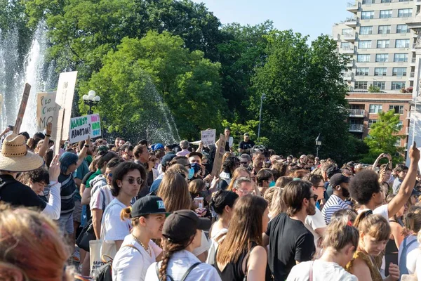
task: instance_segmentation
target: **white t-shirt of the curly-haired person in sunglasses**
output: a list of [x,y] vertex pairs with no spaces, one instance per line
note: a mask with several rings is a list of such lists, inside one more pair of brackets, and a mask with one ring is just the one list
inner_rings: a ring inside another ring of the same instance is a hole
[[[114,204],[113,206],[111,206]],[[114,198],[109,203],[109,207],[102,217],[101,224],[101,237],[104,237],[104,241],[107,243],[114,243],[117,240],[124,240],[124,238],[130,234],[131,221],[126,219],[121,221],[120,213],[121,210],[126,208],[126,205],[121,203],[117,198]]]

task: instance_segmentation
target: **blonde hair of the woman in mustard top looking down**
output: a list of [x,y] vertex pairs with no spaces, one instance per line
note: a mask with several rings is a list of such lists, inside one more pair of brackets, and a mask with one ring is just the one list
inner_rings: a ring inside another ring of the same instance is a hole
[[354,226],[365,235],[373,237],[377,242],[389,240],[391,232],[389,221],[383,216],[373,214],[371,210],[362,211],[356,216]]

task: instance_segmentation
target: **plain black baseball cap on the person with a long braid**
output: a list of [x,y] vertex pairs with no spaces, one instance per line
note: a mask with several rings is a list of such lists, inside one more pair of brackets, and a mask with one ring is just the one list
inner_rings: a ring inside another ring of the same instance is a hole
[[196,230],[208,230],[211,225],[209,218],[199,218],[194,211],[174,211],[163,223],[162,236],[173,243],[183,242],[192,237]]

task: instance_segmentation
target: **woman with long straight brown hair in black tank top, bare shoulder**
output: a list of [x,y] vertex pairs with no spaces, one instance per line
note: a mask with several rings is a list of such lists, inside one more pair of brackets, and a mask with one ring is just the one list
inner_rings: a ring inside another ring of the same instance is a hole
[[236,202],[227,236],[215,258],[222,281],[265,279],[267,254],[261,233],[267,228],[268,214],[262,197],[246,195]]

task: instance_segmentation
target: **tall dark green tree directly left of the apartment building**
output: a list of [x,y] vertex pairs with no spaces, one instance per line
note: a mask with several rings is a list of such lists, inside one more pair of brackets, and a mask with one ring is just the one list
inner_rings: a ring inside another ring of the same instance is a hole
[[307,37],[292,31],[272,32],[267,60],[253,79],[257,94],[250,109],[258,115],[266,94],[262,135],[283,154],[314,153],[314,140],[323,136],[322,156],[338,161],[348,157],[345,119],[347,89],[340,76],[345,58],[335,41],[321,36],[307,45]]

